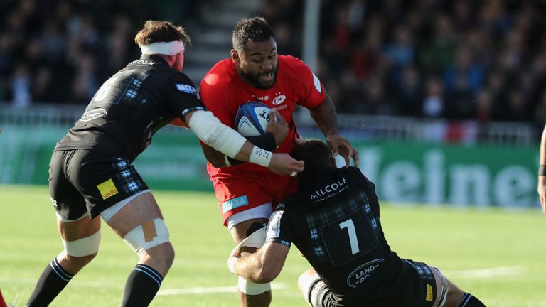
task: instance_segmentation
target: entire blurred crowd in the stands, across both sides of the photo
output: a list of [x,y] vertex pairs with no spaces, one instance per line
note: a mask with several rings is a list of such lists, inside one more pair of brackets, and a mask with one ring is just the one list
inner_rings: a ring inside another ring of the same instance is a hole
[[[86,104],[139,56],[143,21],[184,23],[196,1],[0,4],[0,101],[25,106]],[[301,57],[304,1],[264,4],[279,53]],[[545,13],[545,0],[321,0],[316,74],[338,112],[542,126]]]

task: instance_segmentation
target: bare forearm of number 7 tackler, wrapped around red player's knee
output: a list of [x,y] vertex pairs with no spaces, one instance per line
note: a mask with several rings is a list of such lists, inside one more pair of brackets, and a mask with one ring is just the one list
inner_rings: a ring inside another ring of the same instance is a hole
[[242,254],[235,249],[228,259],[230,271],[257,284],[271,282],[281,272],[289,247],[275,242],[265,243],[253,254]]

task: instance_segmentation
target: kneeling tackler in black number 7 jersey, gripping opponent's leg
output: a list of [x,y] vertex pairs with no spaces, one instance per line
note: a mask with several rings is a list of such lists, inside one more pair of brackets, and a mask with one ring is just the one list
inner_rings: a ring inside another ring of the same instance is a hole
[[331,149],[317,139],[303,141],[293,156],[305,162],[299,190],[272,213],[267,230],[255,232],[265,237],[257,253],[242,256],[234,249],[230,271],[253,282],[270,282],[294,243],[314,268],[298,281],[314,307],[484,306],[434,266],[391,251],[375,185],[358,168],[336,168]]

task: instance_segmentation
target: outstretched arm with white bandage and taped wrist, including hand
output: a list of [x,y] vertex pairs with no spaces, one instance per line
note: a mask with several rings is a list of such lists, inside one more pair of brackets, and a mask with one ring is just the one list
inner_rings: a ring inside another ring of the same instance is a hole
[[304,169],[303,161],[255,146],[209,111],[191,110],[184,115],[184,121],[203,143],[226,156],[265,166],[279,175],[294,175]]

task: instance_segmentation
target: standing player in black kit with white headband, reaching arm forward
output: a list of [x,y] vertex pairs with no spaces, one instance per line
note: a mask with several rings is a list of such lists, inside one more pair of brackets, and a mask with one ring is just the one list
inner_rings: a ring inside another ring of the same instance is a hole
[[[58,142],[49,188],[65,249],[45,267],[27,306],[48,306],[97,255],[99,215],[139,255],[122,306],[148,306],[174,252],[161,210],[132,162],[149,146],[151,136],[176,117],[227,156],[283,175],[303,169],[301,161],[287,154],[259,150],[205,111],[193,83],[181,73],[188,41],[182,27],[147,21],[135,37],[141,58],[100,87],[81,119]],[[286,123],[272,130],[288,131]]]

